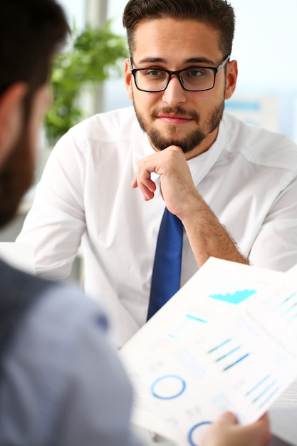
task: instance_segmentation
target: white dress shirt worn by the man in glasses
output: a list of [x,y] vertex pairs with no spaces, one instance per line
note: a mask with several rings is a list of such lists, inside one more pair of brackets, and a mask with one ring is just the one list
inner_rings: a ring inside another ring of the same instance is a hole
[[[154,150],[132,107],[94,115],[61,138],[18,242],[31,242],[40,276],[63,278],[82,239],[85,291],[105,301],[115,342],[145,323],[157,233],[165,204],[130,184]],[[284,135],[224,114],[214,144],[189,160],[194,184],[255,266],[297,263],[297,147]],[[153,179],[158,184],[157,176]],[[184,284],[197,264],[186,234]]]

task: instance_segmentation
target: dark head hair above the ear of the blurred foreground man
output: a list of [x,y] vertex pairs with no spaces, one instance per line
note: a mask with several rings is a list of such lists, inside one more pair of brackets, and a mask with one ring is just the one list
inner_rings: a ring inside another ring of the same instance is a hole
[[0,1],[0,95],[17,81],[32,94],[46,83],[51,57],[63,43],[68,24],[54,0]]

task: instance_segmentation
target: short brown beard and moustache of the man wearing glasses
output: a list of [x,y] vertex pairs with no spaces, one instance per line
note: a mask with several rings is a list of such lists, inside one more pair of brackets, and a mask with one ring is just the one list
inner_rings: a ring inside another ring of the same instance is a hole
[[157,149],[157,150],[164,150],[166,147],[169,147],[170,145],[178,145],[182,148],[182,151],[184,153],[189,153],[192,150],[194,150],[195,147],[201,144],[201,142],[204,140],[204,138],[209,135],[209,133],[212,133],[216,128],[219,126],[220,121],[222,120],[222,116],[224,113],[224,100],[222,103],[217,105],[214,110],[212,110],[212,113],[209,114],[209,117],[207,118],[207,122],[204,125],[204,128],[202,129],[201,126],[199,126],[200,116],[195,110],[186,111],[182,108],[176,107],[176,108],[170,108],[165,107],[162,109],[156,109],[153,110],[152,113],[150,113],[150,119],[153,121],[155,120],[155,117],[160,113],[172,113],[173,115],[179,115],[181,117],[187,117],[192,118],[195,123],[197,123],[197,128],[195,130],[192,130],[192,132],[188,133],[182,138],[179,138],[177,135],[178,128],[176,125],[168,125],[167,133],[170,132],[170,136],[168,137],[164,133],[162,133],[157,128],[154,128],[153,124],[147,123],[145,121],[145,118],[143,118],[142,114],[139,110],[137,110],[137,107],[135,105],[135,101],[133,102],[135,113],[137,116],[137,120],[140,123],[140,127],[142,130],[147,133],[148,138],[150,139],[151,144]]

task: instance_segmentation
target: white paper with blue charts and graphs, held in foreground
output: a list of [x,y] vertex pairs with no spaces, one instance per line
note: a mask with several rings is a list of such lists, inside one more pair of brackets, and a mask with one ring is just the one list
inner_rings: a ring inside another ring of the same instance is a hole
[[293,276],[209,259],[121,352],[135,424],[196,446],[224,410],[266,412],[297,375]]

